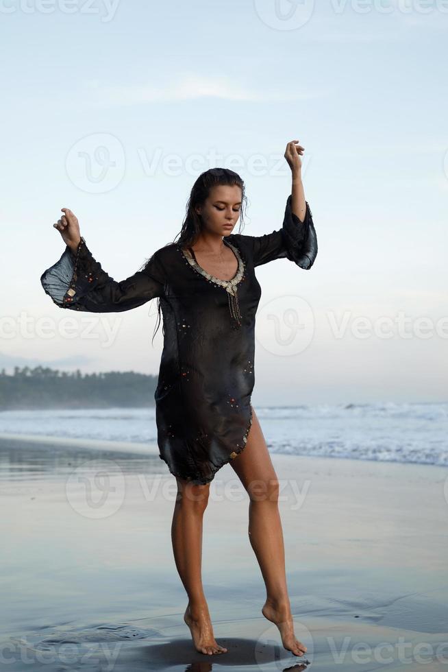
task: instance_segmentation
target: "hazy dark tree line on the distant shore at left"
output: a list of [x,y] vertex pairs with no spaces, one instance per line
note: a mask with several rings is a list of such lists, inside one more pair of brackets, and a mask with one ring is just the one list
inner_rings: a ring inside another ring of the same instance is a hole
[[44,366],[0,372],[0,410],[149,407],[157,376],[134,371],[82,374]]

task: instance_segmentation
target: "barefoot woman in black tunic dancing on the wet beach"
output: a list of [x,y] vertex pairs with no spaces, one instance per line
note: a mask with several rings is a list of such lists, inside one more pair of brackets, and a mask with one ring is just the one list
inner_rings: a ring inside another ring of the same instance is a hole
[[295,638],[286,588],[278,481],[251,407],[261,295],[254,268],[286,258],[309,269],[317,254],[298,142],[288,143],[284,155],[293,188],[282,229],[257,237],[232,233],[245,185],[231,170],[210,169],[192,188],[177,243],[154,252],[134,275],[121,282],[108,276],[88,250],[75,215],[62,208],[53,226],[66,250],[40,278],[53,302],[66,309],[113,313],[158,298],[164,334],[154,395],[158,446],[177,479],[173,552],[188,595],[184,621],[201,653],[227,651],[214,639],[201,581],[203,513],[210,482],[227,463],[249,494],[249,540],[266,584],[262,614],[277,625],[288,651],[306,651]]

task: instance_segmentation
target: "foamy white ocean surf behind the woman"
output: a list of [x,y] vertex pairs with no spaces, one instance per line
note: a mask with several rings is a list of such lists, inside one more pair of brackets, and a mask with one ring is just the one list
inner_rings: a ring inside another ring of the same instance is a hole
[[[271,453],[448,465],[448,402],[255,409]],[[157,443],[153,408],[0,411],[0,433]]]

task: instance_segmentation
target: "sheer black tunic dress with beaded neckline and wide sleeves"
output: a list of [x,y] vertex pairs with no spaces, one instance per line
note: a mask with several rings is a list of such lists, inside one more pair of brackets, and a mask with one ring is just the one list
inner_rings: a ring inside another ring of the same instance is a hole
[[261,288],[255,267],[286,258],[310,269],[317,239],[308,202],[303,223],[286,202],[283,226],[262,236],[223,237],[238,259],[232,280],[210,276],[194,252],[170,243],[145,268],[116,282],[84,238],[67,246],[40,281],[61,308],[128,311],[160,297],[164,346],[155,389],[158,447],[170,472],[195,484],[212,481],[245,447],[255,381],[255,317]]

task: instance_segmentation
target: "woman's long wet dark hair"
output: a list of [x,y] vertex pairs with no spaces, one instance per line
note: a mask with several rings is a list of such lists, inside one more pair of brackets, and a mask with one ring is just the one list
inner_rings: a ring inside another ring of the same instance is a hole
[[[185,219],[182,223],[182,228],[175,237],[175,239],[173,240],[173,243],[181,245],[182,248],[188,248],[190,245],[192,245],[196,241],[197,236],[199,235],[199,233],[203,228],[203,221],[201,215],[198,215],[198,213],[196,212],[197,206],[203,205],[203,203],[210,195],[210,190],[212,189],[212,187],[221,187],[221,186],[233,187],[234,185],[240,187],[241,189],[240,230],[238,231],[240,233],[242,230],[241,224],[243,226],[245,224],[243,208],[245,208],[245,206],[247,205],[247,197],[245,194],[245,183],[242,180],[242,178],[240,178],[238,173],[235,173],[233,170],[230,170],[229,168],[210,168],[209,170],[206,170],[204,173],[201,173],[201,175],[199,175],[199,178],[197,178],[195,184],[193,184],[192,186],[190,197],[188,198],[188,202],[186,204]],[[177,237],[178,239],[176,240]],[[166,243],[164,247],[166,247],[167,245],[172,245],[173,243]],[[148,261],[149,260],[145,261],[141,269],[143,269],[145,265],[147,265]],[[154,336],[157,333],[158,328],[160,326],[159,297],[157,299],[157,311],[158,311],[158,323],[156,324],[152,340],[154,340]],[[162,333],[164,334],[163,328]]]

